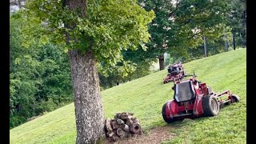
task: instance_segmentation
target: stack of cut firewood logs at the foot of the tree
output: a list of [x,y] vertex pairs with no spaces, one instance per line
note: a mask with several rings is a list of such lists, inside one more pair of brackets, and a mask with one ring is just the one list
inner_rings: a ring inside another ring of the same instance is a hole
[[130,138],[142,134],[142,127],[138,118],[133,113],[116,113],[114,119],[106,118],[106,138],[110,142],[116,142],[120,138]]

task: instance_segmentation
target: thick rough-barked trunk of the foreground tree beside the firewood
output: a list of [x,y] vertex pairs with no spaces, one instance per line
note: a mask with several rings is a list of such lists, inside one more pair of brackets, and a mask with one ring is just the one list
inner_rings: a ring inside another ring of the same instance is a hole
[[96,143],[104,136],[104,114],[100,94],[96,60],[87,51],[69,50],[71,76],[73,80],[76,143]]

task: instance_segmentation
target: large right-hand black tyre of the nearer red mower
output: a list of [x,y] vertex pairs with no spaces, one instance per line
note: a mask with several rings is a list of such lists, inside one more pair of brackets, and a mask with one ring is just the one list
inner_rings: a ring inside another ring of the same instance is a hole
[[217,115],[219,112],[219,102],[214,95],[206,95],[202,98],[202,110],[206,117]]

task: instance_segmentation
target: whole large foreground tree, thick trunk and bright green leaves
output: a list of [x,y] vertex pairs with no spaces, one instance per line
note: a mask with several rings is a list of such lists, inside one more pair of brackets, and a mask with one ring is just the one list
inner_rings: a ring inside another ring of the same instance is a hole
[[142,9],[135,0],[30,0],[24,11],[45,22],[45,34],[69,52],[76,142],[97,142],[104,134],[104,114],[96,65],[118,65],[127,74],[129,62],[123,60],[122,50],[138,46],[146,50],[147,24],[154,12]]

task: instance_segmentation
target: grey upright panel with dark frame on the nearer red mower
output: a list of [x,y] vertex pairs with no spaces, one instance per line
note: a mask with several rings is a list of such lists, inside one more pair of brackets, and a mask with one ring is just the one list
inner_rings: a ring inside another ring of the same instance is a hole
[[194,86],[190,80],[176,83],[174,86],[174,99],[177,102],[186,102],[195,98]]

